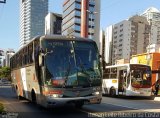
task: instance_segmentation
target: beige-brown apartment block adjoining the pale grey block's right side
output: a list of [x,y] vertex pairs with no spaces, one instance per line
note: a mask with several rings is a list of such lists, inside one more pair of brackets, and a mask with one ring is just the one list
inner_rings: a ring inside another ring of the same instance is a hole
[[151,26],[143,16],[135,15],[129,18],[131,22],[131,55],[147,52],[147,46],[150,43],[149,32]]

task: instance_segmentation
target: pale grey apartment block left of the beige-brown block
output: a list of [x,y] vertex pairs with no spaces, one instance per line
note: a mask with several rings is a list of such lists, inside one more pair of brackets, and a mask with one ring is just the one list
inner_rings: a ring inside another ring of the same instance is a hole
[[[107,36],[108,37],[108,36]],[[112,64],[116,60],[130,58],[131,22],[124,20],[113,27],[112,37]]]

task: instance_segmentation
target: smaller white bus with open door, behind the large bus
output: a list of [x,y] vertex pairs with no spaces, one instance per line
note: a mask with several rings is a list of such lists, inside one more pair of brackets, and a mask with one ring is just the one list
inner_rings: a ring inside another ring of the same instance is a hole
[[106,66],[102,94],[110,96],[151,96],[151,67],[143,64]]

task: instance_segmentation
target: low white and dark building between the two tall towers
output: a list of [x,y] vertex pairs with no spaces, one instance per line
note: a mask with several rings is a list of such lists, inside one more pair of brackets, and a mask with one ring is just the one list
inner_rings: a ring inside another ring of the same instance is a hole
[[45,34],[62,33],[62,15],[57,13],[48,13],[45,18]]

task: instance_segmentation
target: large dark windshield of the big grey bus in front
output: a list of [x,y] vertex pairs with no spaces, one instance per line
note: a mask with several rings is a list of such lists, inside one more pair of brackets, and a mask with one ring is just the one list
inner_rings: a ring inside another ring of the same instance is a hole
[[100,85],[100,67],[95,43],[43,40],[42,47],[45,50],[45,81],[48,85],[56,87]]

